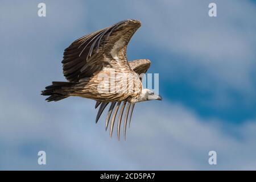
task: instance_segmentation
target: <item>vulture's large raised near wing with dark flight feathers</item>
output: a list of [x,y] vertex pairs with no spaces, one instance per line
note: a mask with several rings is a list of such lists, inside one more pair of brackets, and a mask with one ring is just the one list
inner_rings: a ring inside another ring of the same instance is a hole
[[64,51],[61,62],[64,76],[71,82],[91,77],[103,67],[109,67],[109,60],[128,65],[127,44],[140,26],[138,20],[123,20],[75,40]]

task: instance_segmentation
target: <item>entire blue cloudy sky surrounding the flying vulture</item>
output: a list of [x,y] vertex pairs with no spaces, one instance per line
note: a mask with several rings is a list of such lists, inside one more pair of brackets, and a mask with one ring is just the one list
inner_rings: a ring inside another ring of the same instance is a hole
[[[255,10],[241,0],[2,1],[0,169],[256,169]],[[137,104],[118,142],[104,118],[95,125],[94,101],[48,103],[40,90],[64,81],[73,40],[127,18],[142,22],[128,59],[151,60],[163,101]]]

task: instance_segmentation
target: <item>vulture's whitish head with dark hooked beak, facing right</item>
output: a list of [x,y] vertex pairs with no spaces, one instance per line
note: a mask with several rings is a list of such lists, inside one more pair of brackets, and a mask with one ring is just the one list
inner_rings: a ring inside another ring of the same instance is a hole
[[159,95],[155,95],[155,93],[150,89],[142,89],[142,92],[138,96],[131,98],[129,102],[134,104],[136,102],[149,101],[149,100],[161,101],[162,97]]

